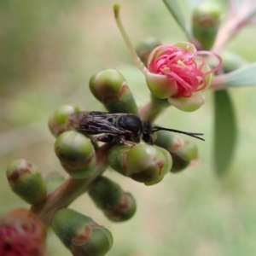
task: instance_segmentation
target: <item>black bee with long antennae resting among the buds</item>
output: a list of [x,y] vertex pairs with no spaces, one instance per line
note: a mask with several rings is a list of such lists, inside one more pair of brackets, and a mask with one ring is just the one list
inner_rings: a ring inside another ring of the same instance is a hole
[[[67,121],[67,130],[71,128],[79,131],[93,141],[102,143],[117,142],[119,144],[134,145],[141,139],[148,144],[153,144],[155,131],[173,131],[186,134],[190,137],[204,141],[202,133],[179,131],[159,126],[152,126],[150,121],[143,121],[133,113],[104,113],[104,112],[79,112],[73,113]],[[100,135],[102,134],[102,135]]]

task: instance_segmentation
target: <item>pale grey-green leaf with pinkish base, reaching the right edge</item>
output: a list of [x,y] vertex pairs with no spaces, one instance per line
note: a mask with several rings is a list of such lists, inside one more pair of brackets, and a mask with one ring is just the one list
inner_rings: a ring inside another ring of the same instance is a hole
[[256,62],[248,64],[230,73],[218,75],[212,80],[212,89],[255,86],[256,85]]

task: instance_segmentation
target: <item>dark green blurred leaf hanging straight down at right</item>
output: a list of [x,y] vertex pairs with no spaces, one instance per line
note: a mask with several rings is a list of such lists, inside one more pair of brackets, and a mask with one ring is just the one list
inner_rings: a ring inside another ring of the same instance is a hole
[[214,91],[214,151],[215,171],[224,175],[236,147],[236,114],[227,90]]

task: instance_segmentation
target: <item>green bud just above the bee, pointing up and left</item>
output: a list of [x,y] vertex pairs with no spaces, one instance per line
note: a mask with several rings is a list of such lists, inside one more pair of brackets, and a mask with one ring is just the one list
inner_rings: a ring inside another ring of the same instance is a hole
[[137,113],[137,105],[125,78],[115,69],[90,78],[90,91],[112,113]]

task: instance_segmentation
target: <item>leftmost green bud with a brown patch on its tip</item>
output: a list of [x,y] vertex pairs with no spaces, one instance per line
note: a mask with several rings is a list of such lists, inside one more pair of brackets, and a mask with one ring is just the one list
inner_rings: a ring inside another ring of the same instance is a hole
[[37,166],[26,160],[12,161],[6,170],[11,189],[29,204],[44,201],[47,191],[44,179]]

